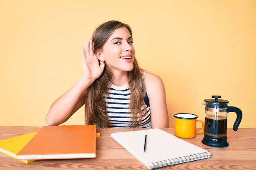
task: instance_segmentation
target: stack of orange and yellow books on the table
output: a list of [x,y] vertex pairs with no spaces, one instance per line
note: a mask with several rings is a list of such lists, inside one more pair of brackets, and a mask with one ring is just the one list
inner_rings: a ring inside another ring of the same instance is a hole
[[96,158],[96,125],[43,126],[38,132],[3,139],[0,153],[29,163],[39,159]]

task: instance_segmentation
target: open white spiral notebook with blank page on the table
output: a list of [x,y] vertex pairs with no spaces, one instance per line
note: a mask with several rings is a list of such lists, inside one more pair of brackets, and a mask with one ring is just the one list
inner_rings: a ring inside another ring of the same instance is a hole
[[[145,135],[146,150],[144,152]],[[211,158],[212,154],[161,129],[112,133],[111,137],[148,169]]]

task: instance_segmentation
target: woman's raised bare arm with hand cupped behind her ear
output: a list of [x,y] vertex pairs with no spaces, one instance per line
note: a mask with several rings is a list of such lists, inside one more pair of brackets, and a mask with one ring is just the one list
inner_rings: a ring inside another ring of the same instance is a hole
[[79,108],[84,105],[87,88],[102,74],[105,64],[100,62],[94,54],[93,41],[89,40],[84,47],[81,47],[83,60],[83,76],[66,93],[61,95],[52,103],[46,116],[48,125],[60,125],[66,122]]

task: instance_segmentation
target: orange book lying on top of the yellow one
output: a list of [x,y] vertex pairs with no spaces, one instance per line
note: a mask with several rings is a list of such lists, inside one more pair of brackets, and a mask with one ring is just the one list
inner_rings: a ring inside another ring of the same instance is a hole
[[17,159],[96,157],[96,125],[43,126],[17,153]]

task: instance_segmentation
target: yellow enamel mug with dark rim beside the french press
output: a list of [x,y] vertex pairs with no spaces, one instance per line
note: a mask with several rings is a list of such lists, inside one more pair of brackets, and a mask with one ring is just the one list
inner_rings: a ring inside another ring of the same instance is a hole
[[[198,116],[191,113],[177,113],[175,117],[175,136],[180,138],[194,138],[196,133],[204,131],[204,122],[197,120]],[[196,122],[202,123],[200,131],[196,131]]]

